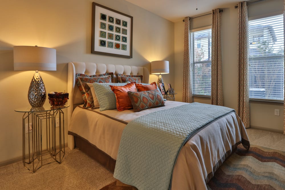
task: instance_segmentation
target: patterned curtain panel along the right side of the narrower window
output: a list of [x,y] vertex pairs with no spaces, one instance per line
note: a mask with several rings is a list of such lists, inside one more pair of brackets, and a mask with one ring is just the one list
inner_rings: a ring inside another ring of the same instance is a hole
[[221,13],[212,10],[212,64],[211,64],[211,104],[223,106],[223,73],[221,55]]

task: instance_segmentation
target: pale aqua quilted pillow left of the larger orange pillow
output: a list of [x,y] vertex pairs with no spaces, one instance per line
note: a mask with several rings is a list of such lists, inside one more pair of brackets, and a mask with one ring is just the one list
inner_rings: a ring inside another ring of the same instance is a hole
[[96,98],[100,105],[100,111],[116,109],[116,96],[111,90],[110,85],[124,86],[126,83],[93,83]]

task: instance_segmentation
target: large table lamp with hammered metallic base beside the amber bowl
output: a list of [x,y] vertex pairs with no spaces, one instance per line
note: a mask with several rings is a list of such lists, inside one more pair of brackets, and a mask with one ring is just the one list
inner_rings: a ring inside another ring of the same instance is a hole
[[41,107],[46,101],[46,88],[39,70],[56,71],[56,50],[38,46],[14,46],[14,71],[35,70],[28,91],[32,107]]

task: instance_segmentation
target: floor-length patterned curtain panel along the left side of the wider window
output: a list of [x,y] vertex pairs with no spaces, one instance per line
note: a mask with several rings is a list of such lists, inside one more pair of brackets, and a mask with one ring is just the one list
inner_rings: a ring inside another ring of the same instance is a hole
[[238,14],[238,102],[237,113],[249,128],[249,50],[247,2],[239,3]]

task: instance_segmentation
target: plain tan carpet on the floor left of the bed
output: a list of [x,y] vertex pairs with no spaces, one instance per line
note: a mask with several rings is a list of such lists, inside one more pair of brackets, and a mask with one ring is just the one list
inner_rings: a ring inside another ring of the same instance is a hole
[[94,189],[115,181],[113,173],[78,149],[66,148],[63,162],[52,162],[31,173],[23,162],[0,167],[0,189]]

